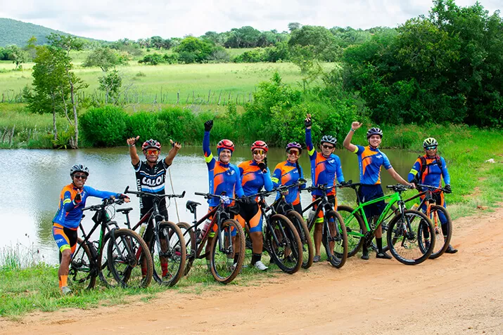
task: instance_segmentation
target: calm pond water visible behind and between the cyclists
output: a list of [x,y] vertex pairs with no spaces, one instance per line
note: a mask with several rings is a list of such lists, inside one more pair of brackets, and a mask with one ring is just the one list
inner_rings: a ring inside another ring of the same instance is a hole
[[[215,150],[215,148],[213,148]],[[186,190],[184,199],[177,199],[178,214],[174,200],[168,208],[171,221],[192,220],[189,211],[185,209],[187,200],[205,204],[204,199],[193,192],[208,192],[208,171],[203,159],[201,147],[183,147],[170,167],[174,192]],[[216,150],[215,150],[216,151]],[[385,150],[395,170],[405,177],[414,163],[417,155],[412,152]],[[345,180],[359,180],[357,156],[347,150],[337,150],[343,164]],[[248,147],[237,147],[232,157],[234,164],[239,164],[251,158]],[[268,165],[271,171],[279,162],[286,159],[284,150],[269,149]],[[300,157],[300,166],[304,176],[311,183],[310,163],[306,155]],[[64,185],[71,182],[70,166],[83,163],[89,166],[90,176],[87,185],[98,190],[123,192],[127,185],[136,188],[134,170],[126,147],[112,149],[82,149],[82,150],[0,150],[0,247],[13,245],[17,242],[27,246],[34,243],[44,254],[44,261],[57,263],[58,252],[54,244],[51,226],[56,213],[58,198]],[[386,171],[382,173],[383,185],[394,183]],[[167,176],[167,192],[172,192],[169,174]],[[386,192],[386,190],[385,190]],[[343,190],[338,194],[339,203],[354,202],[352,190]],[[311,197],[303,194],[303,206],[310,203]],[[98,204],[97,198],[89,198],[87,204]],[[129,206],[133,207],[130,218],[139,219],[138,199],[132,198]],[[206,211],[205,206],[199,207],[199,214]],[[124,222],[122,214],[115,220]],[[84,227],[91,228],[91,216],[84,218]]]

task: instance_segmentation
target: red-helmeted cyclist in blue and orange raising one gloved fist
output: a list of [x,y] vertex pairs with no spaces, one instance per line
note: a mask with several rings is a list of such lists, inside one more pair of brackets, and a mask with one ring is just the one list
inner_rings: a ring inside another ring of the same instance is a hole
[[[210,131],[213,127],[213,120],[206,121],[204,124],[203,152],[208,166],[208,180],[210,183],[210,193],[213,195],[222,195],[224,193],[228,197],[243,197],[243,188],[241,187],[241,178],[239,177],[239,169],[236,165],[231,164],[232,152],[234,152],[234,143],[231,140],[221,140],[217,145],[218,160],[213,157],[210,150]],[[219,205],[219,199],[208,199],[208,211],[211,211],[215,206]],[[211,218],[210,218],[211,220]],[[208,229],[210,221],[203,227],[203,231]],[[211,239],[215,237],[217,230],[216,225],[212,228],[206,244],[206,265],[210,268],[210,249]],[[236,249],[239,249],[239,241],[236,241]],[[237,262],[239,254],[234,255],[234,263]],[[232,260],[232,258],[229,258]],[[233,265],[229,264],[229,265]]]

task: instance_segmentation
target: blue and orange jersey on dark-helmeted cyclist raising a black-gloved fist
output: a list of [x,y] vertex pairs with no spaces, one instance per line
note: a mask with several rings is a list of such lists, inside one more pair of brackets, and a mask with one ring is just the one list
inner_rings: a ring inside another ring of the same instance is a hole
[[[335,195],[336,180],[339,183],[344,181],[343,169],[340,166],[340,158],[337,155],[331,154],[329,157],[324,157],[321,152],[317,152],[312,145],[311,129],[305,129],[305,143],[307,145],[307,153],[311,161],[311,179],[312,185],[317,186],[326,184],[332,188],[327,195]],[[321,191],[314,190],[312,195],[321,195]]]

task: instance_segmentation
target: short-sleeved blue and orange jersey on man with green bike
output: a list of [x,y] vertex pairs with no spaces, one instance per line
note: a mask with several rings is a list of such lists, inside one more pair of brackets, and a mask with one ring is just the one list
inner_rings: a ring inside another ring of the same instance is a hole
[[374,149],[370,145],[363,147],[355,145],[354,153],[358,155],[359,165],[359,182],[363,185],[380,185],[381,184],[381,166],[389,170],[393,168],[390,160],[379,149]]

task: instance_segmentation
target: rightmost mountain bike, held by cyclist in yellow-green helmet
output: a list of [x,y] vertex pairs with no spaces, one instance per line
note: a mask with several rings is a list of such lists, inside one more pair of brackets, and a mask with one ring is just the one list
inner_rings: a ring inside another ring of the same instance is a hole
[[[449,247],[449,244],[451,242],[451,237],[452,237],[452,220],[449,215],[449,212],[444,206],[440,206],[435,203],[435,192],[434,191],[440,191],[440,192],[445,192],[444,188],[436,188],[435,186],[430,186],[430,185],[422,185],[422,184],[417,184],[416,185],[418,188],[422,188],[423,191],[419,192],[417,195],[414,195],[414,197],[410,197],[409,199],[404,200],[405,203],[412,201],[418,197],[424,196],[424,198],[421,200],[421,203],[418,206],[418,210],[421,210],[421,208],[426,204],[426,211],[424,213],[428,218],[433,223],[434,226],[434,232],[435,232],[435,247],[433,249],[433,252],[430,255],[431,259],[438,258],[444,254],[445,250]],[[445,216],[445,223],[440,223],[440,215]],[[420,232],[419,236],[422,237],[419,239],[419,247],[422,249],[428,249],[428,244],[430,243],[430,232],[428,229],[424,229],[426,227],[419,227]]]

